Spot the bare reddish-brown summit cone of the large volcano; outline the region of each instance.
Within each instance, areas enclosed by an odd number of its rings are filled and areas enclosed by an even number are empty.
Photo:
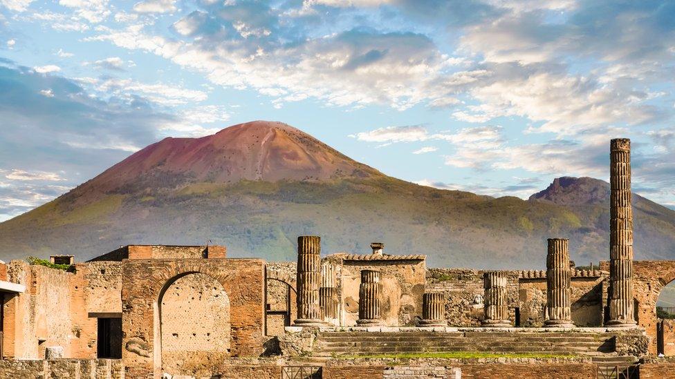
[[[165,138],[87,185],[110,192],[127,184],[137,186],[139,181],[145,188],[170,188],[192,182],[316,182],[380,175],[293,126],[254,121],[200,138]]]

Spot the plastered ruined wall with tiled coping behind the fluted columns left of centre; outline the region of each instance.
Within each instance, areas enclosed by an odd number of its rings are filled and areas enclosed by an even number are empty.
[[[412,325],[422,315],[425,286],[424,260],[344,260],[337,275],[342,302],[340,324],[351,326],[358,320],[359,284],[362,270],[380,271],[382,320],[389,326]]]

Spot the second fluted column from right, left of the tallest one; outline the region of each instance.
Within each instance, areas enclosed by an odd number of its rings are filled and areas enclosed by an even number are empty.
[[[569,240],[549,238],[546,254],[546,310],[545,327],[571,328],[572,270],[569,266]]]

